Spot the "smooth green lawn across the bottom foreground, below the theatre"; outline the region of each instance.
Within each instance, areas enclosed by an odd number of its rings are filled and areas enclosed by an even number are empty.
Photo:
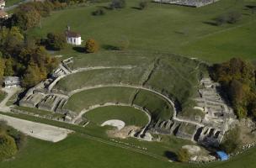
[[[168,151],[168,149],[167,149]],[[23,150],[14,160],[0,162],[6,168],[254,168],[256,149],[249,150],[232,160],[214,164],[191,165],[170,163],[156,160],[131,150],[125,150],[109,144],[86,139],[83,135],[72,134],[58,143],[50,143],[39,139],[28,139]]]

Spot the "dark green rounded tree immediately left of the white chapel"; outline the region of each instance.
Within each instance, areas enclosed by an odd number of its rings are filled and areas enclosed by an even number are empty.
[[[62,50],[67,45],[65,34],[49,33],[47,34],[47,47],[51,50]]]

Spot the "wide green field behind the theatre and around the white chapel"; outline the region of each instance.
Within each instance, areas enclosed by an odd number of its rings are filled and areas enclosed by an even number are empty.
[[[128,39],[131,50],[157,50],[211,62],[233,56],[255,58],[253,44],[256,39],[251,34],[254,34],[256,14],[245,7],[255,5],[255,1],[221,0],[203,8],[149,3],[145,10],[133,8],[138,3],[139,0],[127,1],[125,9],[107,10],[104,16],[98,17],[91,13],[109,3],[53,12],[51,17],[42,19],[42,29],[30,29],[27,33],[45,37],[49,32],[64,32],[69,25],[82,34],[83,40],[93,38],[99,41],[102,50],[106,49],[106,45],[117,46],[122,39]],[[216,16],[233,11],[242,13],[237,24],[207,24]],[[77,51],[68,47],[63,53],[74,54]]]

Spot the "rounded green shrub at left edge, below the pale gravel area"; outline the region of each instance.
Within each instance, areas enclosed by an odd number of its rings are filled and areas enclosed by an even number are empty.
[[[0,135],[0,160],[6,160],[11,158],[17,153],[17,146],[14,139],[7,135]]]

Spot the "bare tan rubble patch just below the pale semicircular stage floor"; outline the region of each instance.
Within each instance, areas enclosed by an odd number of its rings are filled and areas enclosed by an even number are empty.
[[[107,134],[111,138],[120,138],[120,139],[126,139],[130,136],[132,136],[136,131],[140,130],[140,127],[136,126],[126,126],[123,129],[114,129],[114,130],[107,130]]]

